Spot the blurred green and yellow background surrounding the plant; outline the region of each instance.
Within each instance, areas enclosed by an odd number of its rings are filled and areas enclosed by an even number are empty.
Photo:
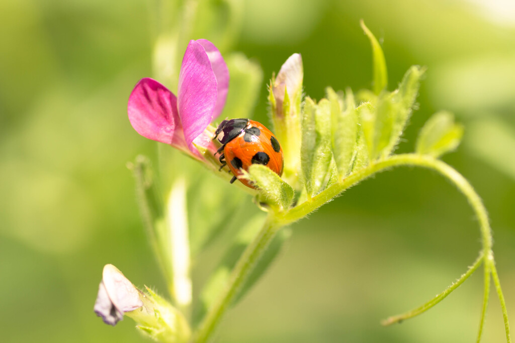
[[[134,84],[152,75],[151,6],[0,2],[3,342],[146,340],[130,319],[116,328],[103,324],[93,304],[106,263],[136,285],[165,291],[126,168],[137,154],[156,151],[133,131],[126,112]],[[263,68],[254,118],[265,123],[266,81],[291,53],[302,53],[305,93],[313,98],[328,85],[370,87],[371,51],[359,19],[383,41],[390,89],[410,65],[428,67],[420,110],[399,151],[413,151],[418,130],[437,110],[454,111],[464,123],[462,145],[443,159],[470,180],[489,211],[512,322],[514,7],[502,0],[248,0],[233,41],[234,50]],[[453,186],[426,170],[386,172],[295,224],[282,256],[217,336],[220,342],[474,341],[480,272],[418,318],[389,328],[379,321],[442,291],[478,250],[478,225]],[[503,339],[492,292],[484,341]]]

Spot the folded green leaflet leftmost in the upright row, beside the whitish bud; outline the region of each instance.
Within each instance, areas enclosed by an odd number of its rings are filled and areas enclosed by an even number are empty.
[[[302,116],[301,166],[307,194],[313,197],[324,189],[330,172],[331,153],[331,102],[318,103],[306,98]]]

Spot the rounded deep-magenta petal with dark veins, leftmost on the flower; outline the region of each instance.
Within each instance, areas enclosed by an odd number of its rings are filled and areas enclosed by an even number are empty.
[[[166,144],[184,146],[177,98],[168,88],[150,78],[141,79],[127,105],[129,121],[140,135]]]

